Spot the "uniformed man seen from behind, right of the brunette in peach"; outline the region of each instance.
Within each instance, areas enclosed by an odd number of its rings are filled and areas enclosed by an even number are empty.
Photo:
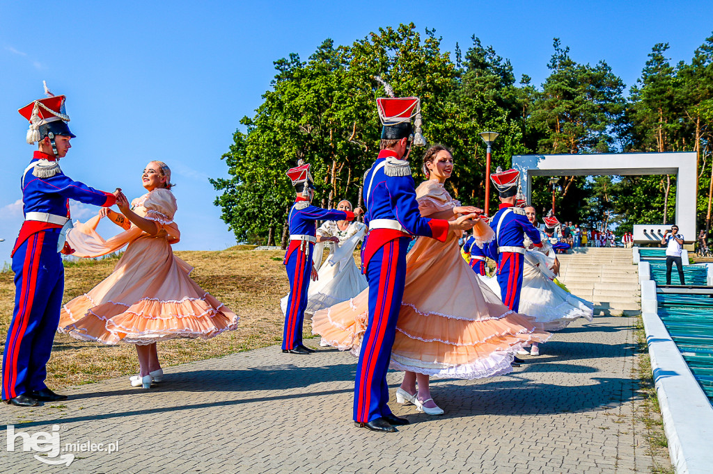
[[[501,288],[503,303],[517,312],[520,306],[520,288],[523,285],[523,262],[525,234],[535,247],[541,247],[540,231],[525,217],[524,209],[515,207],[520,172],[515,169],[491,175],[500,194],[500,209],[491,218],[490,226],[496,238],[488,245],[488,256],[498,262],[497,278]]]

